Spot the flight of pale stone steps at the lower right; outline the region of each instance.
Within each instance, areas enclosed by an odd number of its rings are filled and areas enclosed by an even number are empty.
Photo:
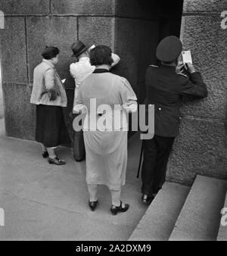
[[[191,189],[166,182],[129,241],[227,240],[227,226],[220,226],[226,190],[225,180],[200,175]]]

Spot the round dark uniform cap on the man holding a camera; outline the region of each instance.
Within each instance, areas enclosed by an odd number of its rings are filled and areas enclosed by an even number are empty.
[[[176,36],[167,36],[157,45],[156,56],[160,61],[175,61],[182,52],[182,42]]]

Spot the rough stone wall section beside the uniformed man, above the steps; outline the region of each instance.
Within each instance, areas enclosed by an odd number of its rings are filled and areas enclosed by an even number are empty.
[[[227,178],[226,30],[220,15],[222,0],[185,0],[181,38],[191,49],[209,95],[182,105],[180,134],[169,161],[168,180],[191,184],[197,173]]]

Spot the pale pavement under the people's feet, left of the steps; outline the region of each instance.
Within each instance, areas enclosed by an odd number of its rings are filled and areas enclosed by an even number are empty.
[[[39,145],[4,135],[0,119],[0,208],[5,226],[0,240],[126,240],[145,214],[141,181],[136,179],[140,142],[129,141],[129,162],[123,201],[129,211],[110,214],[110,192],[101,186],[98,208],[90,211],[85,162],[76,163],[70,148],[60,148],[67,164],[47,163]]]

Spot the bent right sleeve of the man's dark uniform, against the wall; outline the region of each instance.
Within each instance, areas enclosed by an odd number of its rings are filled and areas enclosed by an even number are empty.
[[[190,77],[185,77],[185,81],[182,86],[181,95],[194,96],[197,98],[207,97],[207,85],[201,76],[201,73],[194,72],[190,74]]]

